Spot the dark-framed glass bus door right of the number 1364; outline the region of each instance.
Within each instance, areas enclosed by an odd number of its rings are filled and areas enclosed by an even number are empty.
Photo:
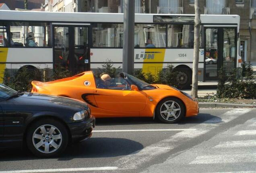
[[[237,34],[234,27],[211,27],[204,30],[204,80],[218,80],[223,67],[229,73],[236,65]]]

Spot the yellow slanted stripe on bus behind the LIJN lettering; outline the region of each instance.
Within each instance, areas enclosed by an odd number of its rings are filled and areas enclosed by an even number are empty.
[[[151,74],[157,74],[160,70],[163,69],[163,61],[165,58],[165,49],[145,49],[145,56],[142,65],[142,72]],[[150,63],[147,63],[150,62]],[[162,62],[162,63],[154,63]]]

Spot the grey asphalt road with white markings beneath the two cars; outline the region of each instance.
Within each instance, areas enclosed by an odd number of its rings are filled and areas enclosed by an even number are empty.
[[[58,158],[0,151],[0,173],[256,172],[256,109],[201,109],[171,125],[149,118],[97,119],[96,125],[91,139]]]

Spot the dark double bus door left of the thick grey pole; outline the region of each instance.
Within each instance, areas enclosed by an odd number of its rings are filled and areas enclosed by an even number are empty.
[[[85,25],[53,25],[54,68],[61,66],[73,74],[90,70],[88,30]]]

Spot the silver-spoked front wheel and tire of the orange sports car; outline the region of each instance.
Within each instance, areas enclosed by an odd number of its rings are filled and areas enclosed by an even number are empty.
[[[155,113],[163,123],[178,123],[185,117],[185,106],[180,99],[169,97],[159,102]]]

